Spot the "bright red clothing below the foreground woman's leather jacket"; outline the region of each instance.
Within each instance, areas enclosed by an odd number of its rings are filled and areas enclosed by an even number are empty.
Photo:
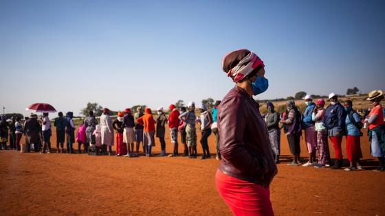
[[[270,189],[217,170],[215,184],[234,215],[274,215]]]

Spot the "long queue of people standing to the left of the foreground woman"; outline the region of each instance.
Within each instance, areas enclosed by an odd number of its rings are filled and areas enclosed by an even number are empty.
[[[217,106],[220,101],[216,101],[214,108],[208,110],[206,105],[199,108],[200,116],[195,115],[195,102],[190,101],[188,107],[182,107],[179,112],[174,104],[169,106],[170,115],[167,117],[163,107],[157,108],[157,117],[154,118],[150,108],[143,112],[142,107],[138,107],[135,115],[130,108],[124,112],[119,111],[118,117],[112,119],[110,110],[104,108],[100,116],[100,123],[90,111],[85,117],[83,123],[80,123],[76,132],[76,126],[73,120],[73,112],[67,112],[63,117],[63,112],[58,112],[58,117],[54,121],[56,128],[56,153],[68,154],[76,153],[74,143],[78,143],[78,153],[92,155],[112,155],[112,146],[115,146],[116,156],[136,157],[140,156],[140,145],[142,143],[142,152],[145,156],[153,156],[152,147],[155,146],[155,136],[159,139],[161,153],[159,156],[166,156],[166,124],[170,130],[170,141],[173,143],[173,152],[168,157],[179,156],[178,133],[181,135],[181,143],[184,152],[181,156],[197,158],[197,132],[195,126],[200,125],[201,147],[203,154],[201,159],[210,158],[208,147],[208,137],[213,132],[216,140],[217,160],[220,160],[219,154],[219,132],[217,125]],[[0,121],[1,148],[6,149],[8,143],[8,134],[10,134],[10,149],[21,152],[40,152],[41,154],[51,152],[52,128],[48,113],[38,119],[36,114],[31,114],[25,119],[24,125],[21,118],[6,121],[5,115]],[[15,130],[13,129],[15,128]],[[10,132],[8,133],[8,130]],[[15,131],[15,132],[14,132]],[[76,136],[75,136],[76,132]],[[12,134],[16,134],[13,139]],[[25,143],[21,142],[22,134],[25,135]],[[114,136],[115,134],[115,136]],[[116,142],[115,142],[116,140]],[[64,143],[67,144],[66,150]],[[135,149],[134,149],[134,143]]]

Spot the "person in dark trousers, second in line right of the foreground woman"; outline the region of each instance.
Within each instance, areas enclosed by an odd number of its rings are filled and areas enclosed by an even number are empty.
[[[298,166],[300,165],[300,136],[301,136],[301,114],[294,100],[286,102],[287,114],[285,119],[281,120],[284,125],[284,132],[289,143],[290,153],[293,155],[293,162],[287,165]]]

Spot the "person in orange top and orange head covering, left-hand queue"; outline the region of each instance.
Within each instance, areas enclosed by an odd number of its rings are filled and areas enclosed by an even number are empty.
[[[151,113],[150,108],[144,110],[144,115],[138,119],[136,122],[140,125],[143,125],[143,145],[146,146],[146,156],[151,156],[151,147],[155,146],[155,121],[153,114]]]

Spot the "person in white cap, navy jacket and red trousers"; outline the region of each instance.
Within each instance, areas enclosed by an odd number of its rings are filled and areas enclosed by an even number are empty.
[[[334,93],[329,95],[330,104],[325,110],[325,125],[329,139],[333,143],[336,160],[331,169],[342,168],[342,136],[344,135],[345,119],[347,117],[344,106],[338,102],[338,96]]]

